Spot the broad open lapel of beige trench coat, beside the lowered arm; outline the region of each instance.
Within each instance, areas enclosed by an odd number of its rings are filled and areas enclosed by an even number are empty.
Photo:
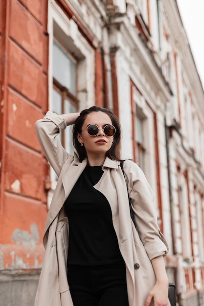
[[[105,166],[109,166],[112,169],[111,171],[105,171],[103,179],[100,180],[94,188],[100,191],[110,203],[113,227],[117,235],[119,248],[134,284],[134,258],[132,251],[133,237],[129,199],[124,175],[120,167],[118,169],[118,165],[119,162],[106,159],[104,169]],[[117,183],[115,184],[114,182]],[[118,197],[118,195],[120,195],[120,197]]]

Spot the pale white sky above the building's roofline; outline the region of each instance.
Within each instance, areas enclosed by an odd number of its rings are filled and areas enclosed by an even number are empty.
[[[204,88],[204,0],[177,0],[177,3]]]

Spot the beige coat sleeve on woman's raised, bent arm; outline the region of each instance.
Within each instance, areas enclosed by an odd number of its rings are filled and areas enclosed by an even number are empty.
[[[51,167],[58,176],[65,161],[71,156],[66,152],[57,138],[59,133],[65,130],[66,127],[65,120],[51,111],[47,111],[45,117],[35,123],[39,143]]]

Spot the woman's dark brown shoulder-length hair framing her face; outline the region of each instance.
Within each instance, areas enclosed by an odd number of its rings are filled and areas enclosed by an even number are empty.
[[[73,131],[72,131],[72,139],[73,139],[73,145],[74,148],[76,149],[79,159],[82,161],[84,158],[87,157],[87,153],[84,147],[81,146],[81,144],[78,141],[77,135],[78,133],[81,132],[83,123],[91,112],[94,111],[102,111],[105,112],[111,119],[113,126],[116,129],[116,132],[114,134],[114,142],[112,147],[109,149],[109,151],[106,152],[106,156],[108,156],[110,159],[113,160],[120,160],[117,156],[117,151],[120,147],[120,140],[121,140],[121,128],[120,128],[120,123],[118,121],[118,118],[115,116],[113,111],[110,109],[104,109],[98,106],[92,106],[89,109],[84,109],[81,111],[79,117],[76,119],[74,126],[73,126]]]

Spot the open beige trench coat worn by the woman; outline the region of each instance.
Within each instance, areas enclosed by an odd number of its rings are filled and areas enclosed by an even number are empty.
[[[39,142],[59,179],[45,223],[45,258],[35,306],[73,306],[67,280],[68,218],[63,204],[85,169],[87,160],[80,162],[76,154],[70,155],[63,149],[56,136],[64,129],[66,122],[49,111],[44,119],[36,122]],[[150,260],[166,255],[168,250],[157,224],[152,190],[140,168],[127,160],[124,172],[135,212],[136,231],[119,164],[106,158],[104,173],[94,188],[108,199],[111,206],[114,230],[126,263],[129,306],[143,306],[156,281]]]

